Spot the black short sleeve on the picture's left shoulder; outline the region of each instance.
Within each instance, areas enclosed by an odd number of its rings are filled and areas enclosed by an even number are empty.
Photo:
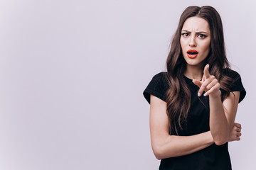
[[[150,94],[160,98],[162,101],[166,101],[166,91],[168,90],[168,86],[164,74],[166,73],[161,72],[159,74],[156,74],[149,82],[149,85],[146,86],[143,95],[146,98],[146,101],[149,102],[149,104]]]

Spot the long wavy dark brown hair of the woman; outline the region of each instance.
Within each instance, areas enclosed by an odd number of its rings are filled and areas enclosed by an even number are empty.
[[[203,65],[210,64],[210,74],[218,79],[220,88],[224,90],[221,93],[222,101],[230,94],[230,82],[233,81],[230,77],[222,74],[224,68],[230,70],[230,64],[225,55],[223,25],[219,13],[211,6],[188,6],[181,14],[166,60],[166,80],[169,84],[169,90],[166,93],[166,103],[170,134],[178,135],[178,129],[182,130],[184,128],[183,125],[186,125],[186,118],[191,107],[191,93],[183,77],[183,73],[186,70],[186,60],[184,60],[182,55],[180,38],[183,23],[187,18],[193,16],[208,21],[210,28],[210,52],[203,61]]]

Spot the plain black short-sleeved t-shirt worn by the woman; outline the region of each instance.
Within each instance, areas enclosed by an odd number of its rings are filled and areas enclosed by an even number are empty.
[[[228,77],[235,79],[235,82],[230,84],[230,90],[240,91],[239,102],[242,101],[242,99],[245,98],[246,91],[242,86],[240,75],[230,69],[225,69],[223,73]],[[169,86],[166,82],[164,74],[166,74],[166,72],[156,74],[144,90],[144,97],[149,103],[150,94],[160,98],[163,101],[166,101],[166,91],[169,89]],[[188,111],[186,128],[183,130],[179,129],[178,135],[189,136],[207,132],[210,130],[209,97],[205,97],[203,95],[198,97],[198,86],[193,84],[192,79],[188,79],[185,76],[184,79],[188,89],[191,91],[191,108]],[[220,89],[220,91],[223,91],[223,89]],[[205,149],[199,150],[198,152],[181,157],[161,159],[159,169],[229,170],[231,169],[231,163],[228,153],[228,142],[220,146],[213,144]]]

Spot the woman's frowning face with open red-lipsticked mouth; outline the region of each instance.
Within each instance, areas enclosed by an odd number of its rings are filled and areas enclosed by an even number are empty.
[[[210,28],[208,22],[197,16],[188,18],[181,29],[181,48],[186,63],[200,66],[210,52]]]

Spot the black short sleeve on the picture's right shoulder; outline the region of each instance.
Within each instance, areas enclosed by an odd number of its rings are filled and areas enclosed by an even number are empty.
[[[240,77],[240,74],[238,72],[235,72],[233,70],[230,70],[228,73],[228,77],[231,77],[234,82],[230,86],[231,91],[240,91],[240,97],[239,97],[239,103],[242,101],[242,99],[245,98],[246,91],[244,86],[242,86],[242,79]]]

